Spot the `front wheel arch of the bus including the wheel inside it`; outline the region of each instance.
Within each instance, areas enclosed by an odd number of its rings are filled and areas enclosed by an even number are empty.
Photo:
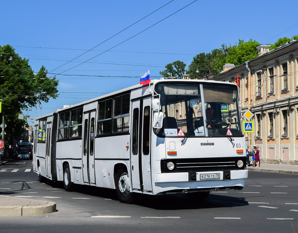
[[[124,164],[116,164],[114,167],[114,183],[117,195],[122,203],[130,203],[132,201],[132,193],[130,190],[130,177],[128,170]]]

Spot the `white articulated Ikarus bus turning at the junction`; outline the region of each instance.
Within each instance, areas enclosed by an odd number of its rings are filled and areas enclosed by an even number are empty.
[[[237,85],[151,80],[36,118],[33,167],[40,181],[132,193],[241,190],[247,178]]]

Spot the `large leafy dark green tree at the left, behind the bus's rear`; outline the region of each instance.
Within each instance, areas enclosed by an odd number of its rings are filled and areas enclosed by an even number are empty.
[[[56,77],[47,78],[44,66],[35,75],[28,64],[29,60],[21,58],[10,45],[0,46],[0,54],[0,99],[7,125],[5,139],[8,140],[10,136],[18,138],[28,127],[28,115],[18,119],[21,112],[58,96],[58,80]],[[15,61],[9,63],[7,59],[10,57]]]

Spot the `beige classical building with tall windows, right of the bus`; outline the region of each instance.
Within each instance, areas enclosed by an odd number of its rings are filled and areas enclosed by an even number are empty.
[[[257,49],[257,58],[226,64],[213,80],[235,82],[239,76],[241,112],[254,114],[246,141],[249,148],[260,146],[261,162],[298,165],[298,40]]]

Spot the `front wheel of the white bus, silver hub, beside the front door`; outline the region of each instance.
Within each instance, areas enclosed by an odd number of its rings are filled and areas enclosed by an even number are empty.
[[[132,200],[132,193],[130,192],[130,182],[126,171],[119,169],[116,176],[116,190],[119,200],[122,203],[130,203]]]

